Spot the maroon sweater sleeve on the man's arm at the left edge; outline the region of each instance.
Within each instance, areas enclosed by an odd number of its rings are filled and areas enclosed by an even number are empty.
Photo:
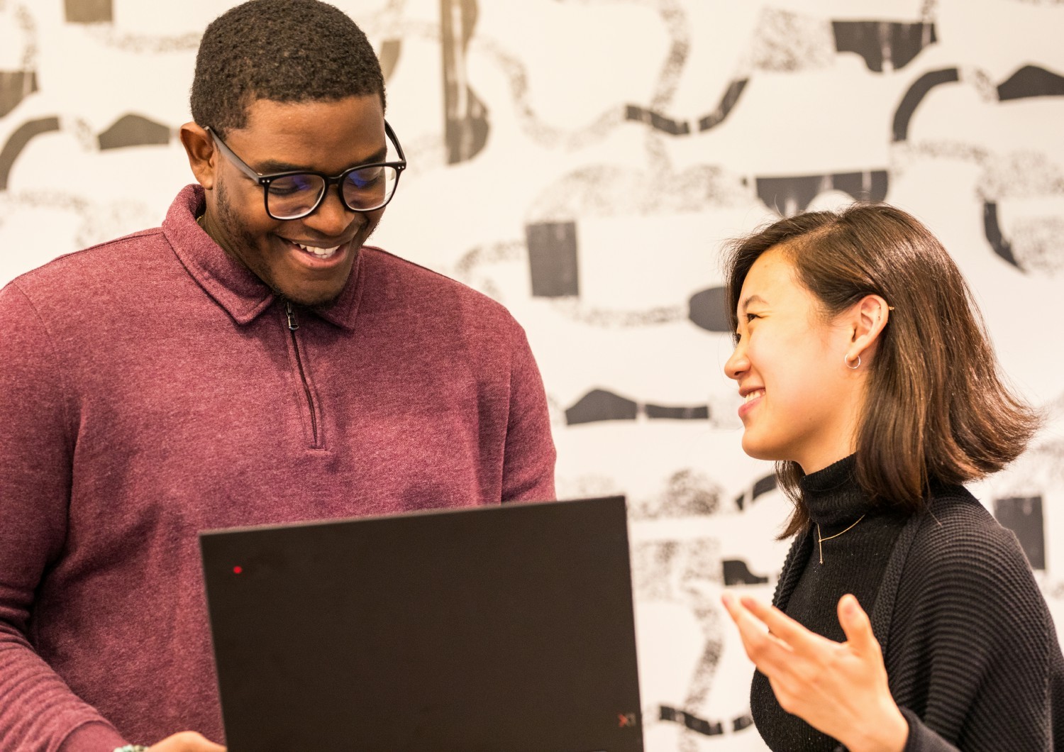
[[[110,751],[121,737],[33,649],[35,592],[66,540],[72,406],[46,327],[17,283],[0,290],[0,747]],[[74,745],[76,733],[85,743]]]

